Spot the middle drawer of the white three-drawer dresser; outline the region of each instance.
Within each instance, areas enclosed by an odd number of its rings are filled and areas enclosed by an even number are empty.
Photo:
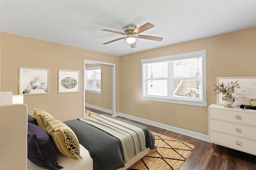
[[[256,127],[210,120],[210,130],[256,140]]]

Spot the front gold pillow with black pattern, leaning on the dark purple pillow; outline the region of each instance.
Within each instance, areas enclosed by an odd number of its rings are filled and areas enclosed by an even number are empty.
[[[65,123],[54,118],[46,118],[45,127],[52,137],[56,148],[69,158],[83,160],[80,155],[79,141],[76,134]]]

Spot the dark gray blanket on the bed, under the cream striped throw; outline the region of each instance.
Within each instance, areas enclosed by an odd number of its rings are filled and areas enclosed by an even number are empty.
[[[112,116],[108,117],[118,119]],[[156,149],[154,135],[146,127],[122,119],[118,120],[141,128],[145,135],[146,148]],[[80,144],[90,152],[94,170],[116,170],[124,167],[122,145],[116,137],[78,119],[64,123],[76,133]]]

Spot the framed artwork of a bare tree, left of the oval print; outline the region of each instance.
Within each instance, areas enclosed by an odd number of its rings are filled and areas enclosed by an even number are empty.
[[[19,94],[49,94],[49,69],[20,67],[19,79]]]

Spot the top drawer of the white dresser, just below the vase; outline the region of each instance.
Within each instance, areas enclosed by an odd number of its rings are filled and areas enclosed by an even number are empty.
[[[210,119],[242,123],[246,125],[256,125],[256,114],[242,111],[231,111],[226,109],[210,108]]]

